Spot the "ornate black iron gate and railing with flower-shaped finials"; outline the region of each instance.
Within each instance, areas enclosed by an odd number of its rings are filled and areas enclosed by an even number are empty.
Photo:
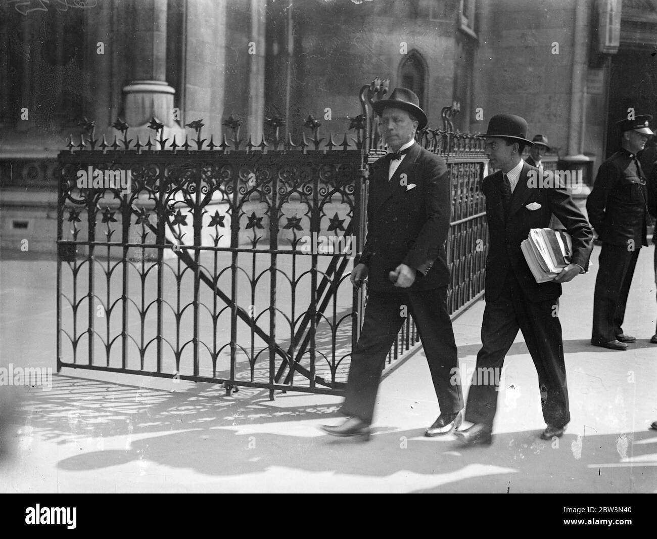
[[[233,139],[219,145],[201,138],[200,121],[182,145],[156,120],[160,138],[144,144],[118,121],[123,138],[108,145],[88,123],[87,137],[59,156],[58,370],[268,388],[270,398],[339,392],[365,300],[349,274],[365,237],[367,164],[382,153],[371,102],[385,91],[380,81],[363,87],[355,137],[340,144],[321,139],[310,117],[310,141],[277,132],[244,149],[235,118],[225,122]],[[449,129],[450,110],[445,129],[418,138],[452,172],[457,312],[483,285],[485,159],[479,139]],[[129,177],[129,189],[107,185],[112,177]],[[389,362],[418,340],[409,319]]]

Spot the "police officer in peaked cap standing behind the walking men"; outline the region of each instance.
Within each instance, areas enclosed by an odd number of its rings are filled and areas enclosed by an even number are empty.
[[[625,303],[642,245],[647,246],[648,212],[646,177],[637,153],[654,135],[643,114],[616,122],[621,149],[600,165],[593,191],[586,200],[589,221],[600,241],[599,269],[593,299],[591,344],[627,350],[635,337],[623,333]]]

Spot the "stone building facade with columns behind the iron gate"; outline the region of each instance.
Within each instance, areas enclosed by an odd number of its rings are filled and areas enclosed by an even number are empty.
[[[110,141],[230,114],[298,139],[312,114],[342,133],[374,77],[419,95],[430,126],[524,116],[589,181],[634,108],[657,117],[657,0],[1,0],[0,246],[53,252],[56,156],[96,122]],[[648,150],[650,152],[654,150]]]

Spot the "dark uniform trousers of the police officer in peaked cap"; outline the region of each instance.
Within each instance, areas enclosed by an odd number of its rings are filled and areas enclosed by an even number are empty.
[[[627,294],[640,250],[641,246],[628,251],[623,245],[602,243],[593,296],[593,344],[615,340],[623,333]]]

